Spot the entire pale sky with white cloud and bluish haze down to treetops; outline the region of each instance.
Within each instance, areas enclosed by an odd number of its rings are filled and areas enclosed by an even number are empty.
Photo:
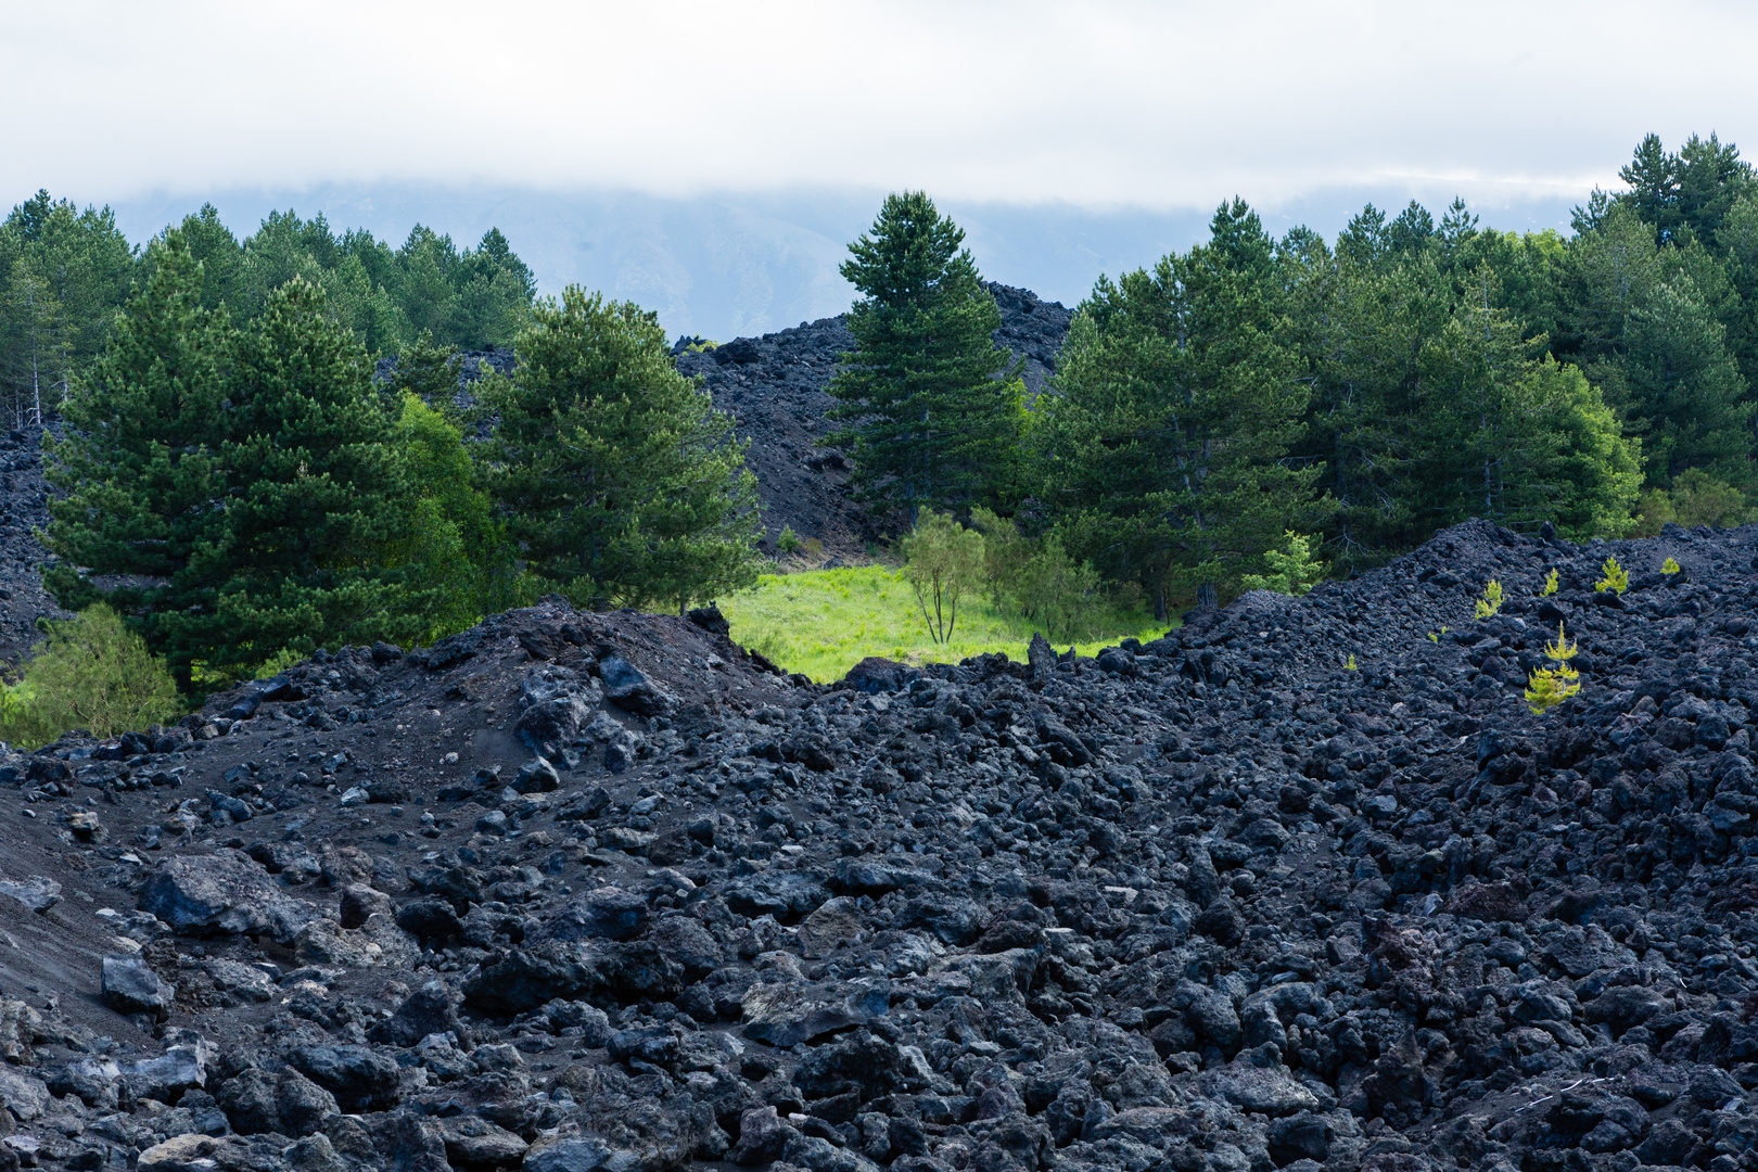
[[[109,204],[134,239],[206,200],[243,232],[288,206],[397,241],[498,223],[545,290],[710,336],[846,307],[835,264],[891,190],[933,195],[988,276],[1072,302],[1231,195],[1326,235],[1452,195],[1566,228],[1644,134],[1747,142],[1758,119],[1758,5],[1688,0],[0,0],[0,21],[7,206]],[[1658,58],[1667,30],[1688,51]]]

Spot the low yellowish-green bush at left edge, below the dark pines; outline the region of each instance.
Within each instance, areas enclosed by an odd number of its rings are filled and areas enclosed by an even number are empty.
[[[114,736],[178,713],[178,685],[165,662],[121,617],[90,606],[74,619],[46,620],[21,678],[0,682],[0,736],[37,749],[69,729]]]

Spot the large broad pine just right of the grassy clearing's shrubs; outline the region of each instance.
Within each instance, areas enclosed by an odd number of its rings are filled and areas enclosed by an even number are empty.
[[[1139,580],[1157,617],[1213,603],[1310,508],[1283,457],[1308,390],[1282,343],[1269,237],[1243,202],[1153,272],[1101,279],[1035,425],[1042,499],[1078,559]]]

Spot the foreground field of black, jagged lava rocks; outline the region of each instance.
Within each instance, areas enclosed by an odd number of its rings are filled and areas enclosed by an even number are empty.
[[[0,1165],[1758,1167],[1754,599],[1471,524],[1095,661],[318,655],[0,764]]]

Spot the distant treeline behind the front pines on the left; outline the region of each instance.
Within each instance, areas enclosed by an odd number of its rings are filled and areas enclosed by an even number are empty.
[[[183,248],[202,264],[202,306],[257,320],[294,278],[323,292],[323,313],[373,353],[422,336],[462,350],[508,346],[536,283],[498,228],[475,250],[417,225],[401,248],[334,232],[323,216],[271,213],[243,241],[214,207],[186,216]],[[47,192],[0,221],[0,411],[12,427],[53,416],[102,353],[116,313],[151,272],[111,209],[79,211]]]

